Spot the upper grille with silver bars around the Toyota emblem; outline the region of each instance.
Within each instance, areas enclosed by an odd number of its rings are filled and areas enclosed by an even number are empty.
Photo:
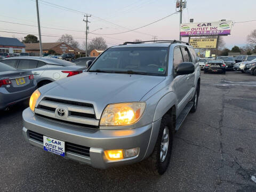
[[[65,115],[60,116],[57,113],[58,109],[63,109]],[[94,107],[91,103],[45,97],[35,108],[35,114],[75,126],[99,127],[99,119],[96,119]]]

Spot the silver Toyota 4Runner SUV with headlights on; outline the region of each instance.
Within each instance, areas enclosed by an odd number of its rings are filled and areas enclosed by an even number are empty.
[[[87,73],[36,90],[22,131],[31,145],[93,167],[144,160],[163,174],[173,134],[196,111],[199,89],[188,43],[126,42],[103,52]]]

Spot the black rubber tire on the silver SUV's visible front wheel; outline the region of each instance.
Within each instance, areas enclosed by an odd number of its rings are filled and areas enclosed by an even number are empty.
[[[163,161],[161,162],[161,148],[162,148],[162,139],[165,128],[169,130],[169,143],[167,147],[167,153]],[[172,141],[173,141],[173,134],[174,134],[174,127],[171,122],[171,116],[166,114],[162,117],[157,141],[153,153],[149,156],[149,158],[143,161],[143,166],[146,166],[147,171],[150,171],[154,175],[162,175],[167,170],[171,154],[172,154]]]

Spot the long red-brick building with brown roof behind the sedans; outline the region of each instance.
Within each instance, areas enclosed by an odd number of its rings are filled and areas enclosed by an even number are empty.
[[[39,43],[25,43],[26,52],[30,55],[38,56],[40,53]],[[73,48],[66,43],[56,42],[56,43],[42,43],[43,53],[48,53],[49,50],[54,50],[58,54],[62,53],[74,53],[78,54],[79,49]]]

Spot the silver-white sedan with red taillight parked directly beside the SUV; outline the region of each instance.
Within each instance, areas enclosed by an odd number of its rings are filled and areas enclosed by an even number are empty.
[[[6,58],[1,62],[17,69],[29,69],[33,72],[37,86],[82,73],[85,68],[74,63],[49,57]]]

